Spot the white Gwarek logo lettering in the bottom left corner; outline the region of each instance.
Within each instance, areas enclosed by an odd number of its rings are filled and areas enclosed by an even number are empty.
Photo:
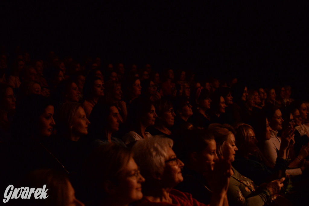
[[[21,197],[21,199],[30,199],[32,193],[34,193],[35,199],[42,199],[42,198],[46,199],[48,198],[49,195],[46,194],[46,191],[48,191],[48,189],[45,190],[45,188],[46,188],[46,185],[43,186],[43,189],[42,188],[29,188],[29,187],[21,187],[21,188],[14,189],[13,185],[9,185],[6,187],[6,190],[4,192],[4,198],[6,199],[3,199],[3,202],[7,203],[10,200],[10,198],[18,199],[19,197]]]

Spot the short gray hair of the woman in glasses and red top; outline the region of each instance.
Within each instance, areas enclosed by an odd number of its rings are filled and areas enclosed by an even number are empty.
[[[163,174],[167,150],[172,146],[173,140],[161,136],[140,140],[134,144],[132,148],[133,158],[136,164],[140,166],[141,174],[146,181],[157,174]]]

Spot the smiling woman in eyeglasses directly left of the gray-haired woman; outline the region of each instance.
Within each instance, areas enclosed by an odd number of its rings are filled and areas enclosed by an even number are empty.
[[[121,145],[101,145],[89,156],[81,195],[90,205],[125,206],[143,197],[142,183],[131,151]],[[90,189],[89,189],[90,188]]]

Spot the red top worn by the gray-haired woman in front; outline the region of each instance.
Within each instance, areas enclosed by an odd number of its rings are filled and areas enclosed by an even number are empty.
[[[150,202],[147,197],[143,197],[142,200],[135,202],[135,206],[205,206],[205,204],[198,202],[190,193],[181,192],[179,190],[171,189],[170,198],[172,203],[167,202]]]

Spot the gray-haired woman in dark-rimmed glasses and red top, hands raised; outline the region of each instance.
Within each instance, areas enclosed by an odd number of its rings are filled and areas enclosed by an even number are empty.
[[[142,184],[144,197],[135,205],[205,205],[189,193],[173,189],[183,181],[181,162],[172,150],[173,141],[165,137],[155,137],[137,141],[133,146],[134,160],[145,183]],[[231,165],[221,161],[215,166],[216,188],[210,205],[222,205],[226,195]]]

